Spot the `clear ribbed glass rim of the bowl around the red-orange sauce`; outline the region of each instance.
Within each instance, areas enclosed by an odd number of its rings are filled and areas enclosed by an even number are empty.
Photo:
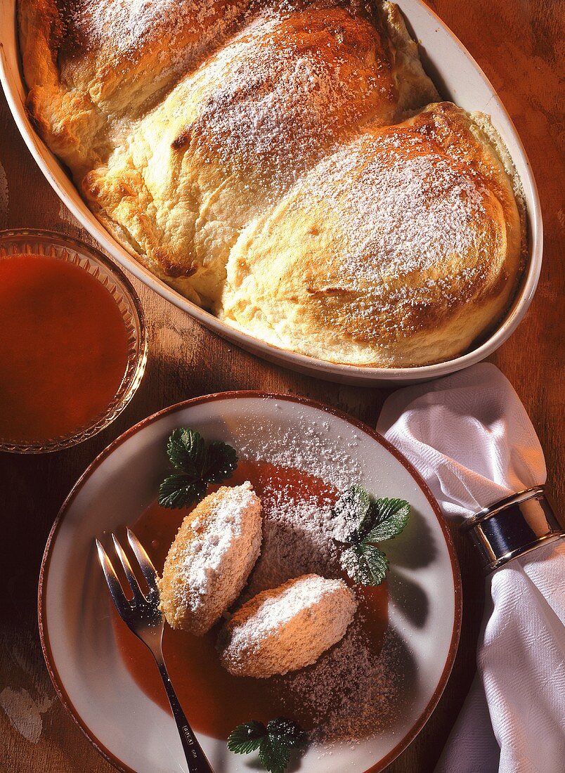
[[[134,396],[147,362],[147,330],[143,308],[131,282],[123,271],[93,247],[62,234],[44,230],[16,229],[0,231],[0,261],[19,254],[45,255],[74,264],[100,281],[116,301],[128,331],[128,362],[114,399],[87,425],[74,434],[47,441],[17,443],[2,438],[0,450],[19,454],[60,451],[82,443],[104,430],[118,417]]]

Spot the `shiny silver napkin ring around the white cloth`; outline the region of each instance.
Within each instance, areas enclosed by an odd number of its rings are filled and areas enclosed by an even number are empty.
[[[547,501],[543,485],[526,489],[486,507],[461,525],[481,553],[489,574],[512,558],[560,540],[565,530]]]

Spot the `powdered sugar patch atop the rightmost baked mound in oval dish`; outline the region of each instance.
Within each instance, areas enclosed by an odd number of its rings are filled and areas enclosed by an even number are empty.
[[[315,179],[296,206],[336,210],[342,279],[354,288],[380,281],[388,295],[386,281],[414,272],[437,269],[441,278],[446,263],[474,247],[473,223],[485,217],[484,189],[473,170],[438,155],[416,133],[360,137],[326,158]]]

